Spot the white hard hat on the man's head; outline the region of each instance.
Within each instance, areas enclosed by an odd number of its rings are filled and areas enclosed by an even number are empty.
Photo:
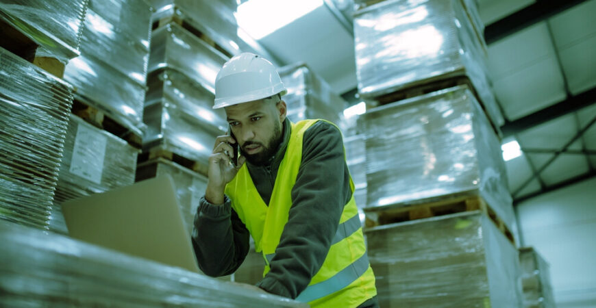
[[[287,92],[271,62],[254,53],[240,53],[225,62],[217,73],[213,109]]]

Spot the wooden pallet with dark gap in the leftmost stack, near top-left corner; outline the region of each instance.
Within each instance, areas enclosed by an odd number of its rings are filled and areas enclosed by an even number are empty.
[[[53,57],[38,55],[39,45],[2,19],[0,19],[0,37],[2,38],[0,47],[3,49],[22,57],[55,77],[64,77],[66,64]]]

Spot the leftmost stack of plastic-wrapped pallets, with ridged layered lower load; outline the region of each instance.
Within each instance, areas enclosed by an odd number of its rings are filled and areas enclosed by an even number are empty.
[[[87,1],[0,1],[0,218],[49,228]]]

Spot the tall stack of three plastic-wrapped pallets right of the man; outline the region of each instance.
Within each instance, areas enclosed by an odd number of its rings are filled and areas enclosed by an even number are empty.
[[[356,4],[358,92],[369,106],[367,238],[381,302],[520,307],[503,118],[475,1]]]

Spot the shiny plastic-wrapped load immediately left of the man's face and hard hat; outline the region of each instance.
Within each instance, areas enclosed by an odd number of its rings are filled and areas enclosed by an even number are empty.
[[[213,94],[167,69],[151,77],[144,120],[145,149],[164,149],[207,166],[217,136],[225,134],[223,110],[213,110]]]

